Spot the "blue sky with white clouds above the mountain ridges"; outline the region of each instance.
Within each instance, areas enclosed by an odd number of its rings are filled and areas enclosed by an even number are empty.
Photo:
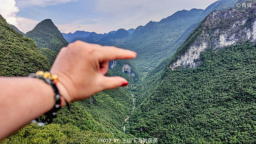
[[[23,32],[52,19],[61,32],[136,29],[179,10],[205,9],[217,0],[0,0],[0,14]]]

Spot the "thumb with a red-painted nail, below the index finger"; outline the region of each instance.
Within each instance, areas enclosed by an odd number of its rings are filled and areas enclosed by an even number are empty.
[[[101,84],[102,90],[113,89],[113,88],[117,88],[119,86],[128,86],[127,80],[122,77],[102,76],[100,79],[100,84]]]

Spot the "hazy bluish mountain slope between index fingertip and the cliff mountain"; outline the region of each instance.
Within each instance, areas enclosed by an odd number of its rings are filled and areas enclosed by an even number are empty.
[[[144,68],[153,68],[175,52],[170,46],[189,28],[201,14],[202,9],[178,11],[160,22],[149,22],[136,28],[123,48],[138,53],[134,62]]]

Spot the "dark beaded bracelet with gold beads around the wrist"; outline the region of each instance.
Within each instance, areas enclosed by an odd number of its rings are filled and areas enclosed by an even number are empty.
[[[29,77],[41,79],[45,83],[47,83],[47,84],[49,84],[53,87],[53,90],[55,92],[54,99],[56,101],[56,104],[54,105],[52,110],[50,110],[49,112],[44,114],[46,116],[44,119],[43,118],[36,118],[36,119],[32,120],[32,123],[37,122],[38,126],[43,126],[45,124],[49,124],[53,121],[53,118],[57,117],[57,111],[59,111],[61,109],[61,96],[62,95],[60,94],[60,92],[59,92],[59,90],[56,86],[56,83],[58,81],[57,80],[58,76],[57,75],[52,75],[49,72],[38,71],[36,73],[30,74]],[[64,100],[65,100],[65,102],[68,106],[68,102],[66,101],[65,98],[64,98]]]

